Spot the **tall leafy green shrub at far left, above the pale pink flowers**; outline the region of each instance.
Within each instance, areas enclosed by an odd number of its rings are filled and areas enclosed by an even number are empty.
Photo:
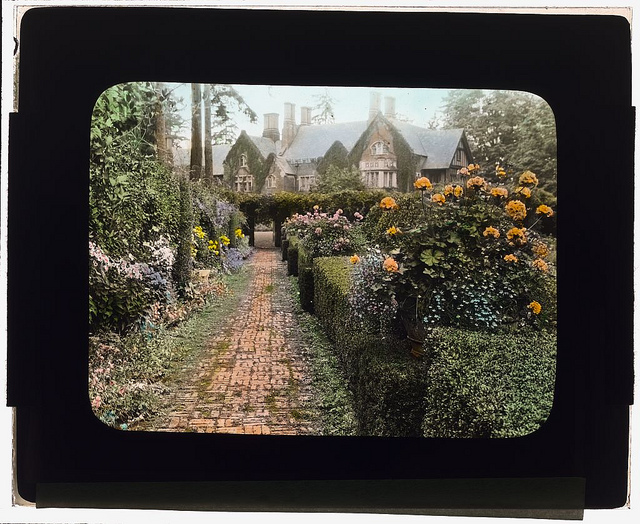
[[[177,232],[178,185],[157,160],[150,83],[120,84],[98,98],[91,120],[89,235],[112,256],[144,256],[145,242]]]

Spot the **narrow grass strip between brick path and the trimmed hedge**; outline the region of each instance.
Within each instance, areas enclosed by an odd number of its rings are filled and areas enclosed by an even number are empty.
[[[312,387],[316,393],[316,410],[322,421],[322,435],[355,436],[353,393],[340,371],[333,346],[313,315],[302,309],[297,278],[288,277],[285,287],[293,298],[293,312],[300,326],[300,335],[311,355]]]

